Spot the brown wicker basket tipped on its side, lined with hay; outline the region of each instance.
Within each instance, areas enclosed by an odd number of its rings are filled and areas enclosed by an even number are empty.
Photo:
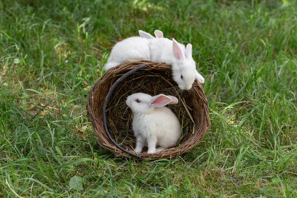
[[[137,92],[179,99],[179,104],[168,106],[183,128],[177,146],[153,154],[134,152],[133,114],[125,100]],[[148,60],[126,62],[106,71],[90,91],[87,112],[101,147],[116,155],[145,160],[172,158],[190,151],[210,127],[203,88],[195,81],[191,90],[181,91],[172,80],[170,65]]]

